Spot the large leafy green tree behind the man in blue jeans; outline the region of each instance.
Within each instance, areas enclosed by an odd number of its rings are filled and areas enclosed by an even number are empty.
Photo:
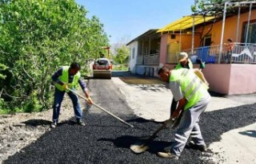
[[[85,65],[103,45],[106,33],[98,18],[74,0],[0,0],[0,80],[10,108],[37,111],[50,107],[51,74],[60,65]]]

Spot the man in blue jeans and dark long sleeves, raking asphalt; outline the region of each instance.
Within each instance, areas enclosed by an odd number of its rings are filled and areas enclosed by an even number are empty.
[[[78,84],[80,84],[82,91],[86,95],[87,102],[90,104],[93,103],[93,101],[90,99],[90,94],[86,88],[86,84],[81,80],[81,73],[79,70],[80,65],[74,62],[70,64],[70,66],[62,66],[52,76],[52,80],[54,81],[54,85],[56,87],[54,92],[53,123],[51,124],[52,128],[56,127],[58,124],[58,115],[65,93],[67,93],[72,100],[74,115],[77,123],[82,126],[85,125],[85,123],[82,121],[82,110],[78,101],[78,96],[75,95],[74,92],[67,90],[70,88],[75,91],[75,89],[78,88]]]

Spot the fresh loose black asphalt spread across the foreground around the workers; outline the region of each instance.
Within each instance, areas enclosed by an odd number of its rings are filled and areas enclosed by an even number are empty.
[[[256,103],[203,113],[200,126],[206,144],[219,141],[226,131],[255,123],[255,111]],[[162,124],[134,115],[119,116],[134,128],[110,115],[91,113],[85,115],[85,127],[72,121],[62,123],[3,163],[213,163],[207,159],[213,154],[210,150],[185,149],[178,161],[159,158],[156,153],[174,139],[175,131],[170,129],[159,132],[149,150],[134,154],[130,145],[147,139]]]

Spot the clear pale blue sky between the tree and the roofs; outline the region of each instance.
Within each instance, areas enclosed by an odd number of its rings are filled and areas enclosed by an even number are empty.
[[[161,29],[192,14],[194,0],[75,0],[96,16],[110,36],[110,45],[127,44],[149,29]]]

